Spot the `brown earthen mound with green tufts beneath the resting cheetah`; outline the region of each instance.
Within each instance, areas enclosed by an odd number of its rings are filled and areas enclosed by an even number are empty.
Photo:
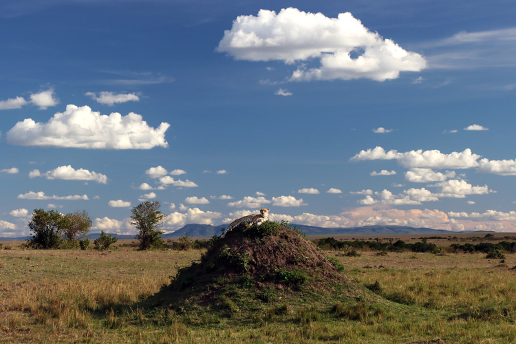
[[[180,269],[144,306],[231,316],[250,314],[262,303],[356,294],[356,283],[341,270],[296,228],[277,222],[242,225],[214,237],[200,263]]]

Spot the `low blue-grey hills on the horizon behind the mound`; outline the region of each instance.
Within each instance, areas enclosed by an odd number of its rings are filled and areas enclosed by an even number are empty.
[[[445,229],[415,228],[407,226],[364,226],[351,228],[325,228],[306,226],[304,224],[292,224],[303,230],[306,235],[387,235],[387,234],[433,234],[453,233]],[[187,224],[173,233],[163,235],[164,239],[178,238],[188,234],[190,237],[213,237],[221,234],[222,228],[228,228],[228,224],[211,226],[209,224]]]

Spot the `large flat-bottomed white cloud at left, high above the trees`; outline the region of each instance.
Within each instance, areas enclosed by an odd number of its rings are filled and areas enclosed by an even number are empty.
[[[31,118],[18,122],[7,133],[10,144],[41,147],[73,147],[85,149],[151,149],[168,147],[165,131],[170,125],[162,122],[154,129],[133,112],[122,116],[116,112],[100,115],[90,107],[67,105],[47,123]]]

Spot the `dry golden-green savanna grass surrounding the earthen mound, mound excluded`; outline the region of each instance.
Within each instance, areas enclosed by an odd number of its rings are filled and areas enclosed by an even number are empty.
[[[516,341],[516,255],[508,251],[504,259],[486,259],[446,244],[438,252],[325,248],[352,288],[309,288],[303,286],[311,283],[308,276],[293,289],[264,286],[246,308],[250,291],[241,290],[252,289],[243,283],[224,294],[239,303],[226,297],[224,312],[215,314],[209,307],[191,312],[148,302],[166,294],[169,277],[200,263],[206,250],[24,250],[19,244],[0,250],[0,343]]]

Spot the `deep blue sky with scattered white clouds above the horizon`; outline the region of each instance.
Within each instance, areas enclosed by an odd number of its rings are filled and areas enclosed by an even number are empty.
[[[2,1],[0,236],[270,208],[516,230],[513,1]]]

